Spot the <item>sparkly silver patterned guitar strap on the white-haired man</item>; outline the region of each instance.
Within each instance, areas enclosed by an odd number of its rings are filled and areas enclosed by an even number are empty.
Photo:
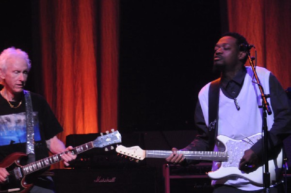
[[[30,91],[23,90],[23,93],[26,109],[26,154],[28,156],[28,163],[32,163],[35,162],[32,98]]]

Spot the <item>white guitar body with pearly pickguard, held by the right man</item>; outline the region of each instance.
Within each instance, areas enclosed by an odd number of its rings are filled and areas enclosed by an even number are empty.
[[[261,134],[255,134],[242,140],[234,140],[225,135],[217,136],[217,139],[221,141],[228,153],[227,162],[222,162],[219,169],[213,172],[209,172],[208,176],[211,179],[220,179],[227,176],[239,176],[241,178],[248,179],[259,186],[263,185],[263,166],[260,166],[253,172],[245,173],[239,170],[239,163],[242,159],[244,151],[251,148],[261,138]],[[281,175],[281,167],[283,165],[283,152],[279,153],[277,159],[269,161],[270,182],[275,182]]]

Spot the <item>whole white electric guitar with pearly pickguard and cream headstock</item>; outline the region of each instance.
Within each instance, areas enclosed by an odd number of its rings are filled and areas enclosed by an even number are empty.
[[[178,153],[183,153],[186,159],[189,160],[220,161],[220,168],[208,173],[208,176],[211,179],[239,176],[248,179],[259,186],[263,186],[263,166],[260,166],[258,169],[250,173],[245,173],[239,170],[239,163],[244,151],[252,147],[260,138],[261,134],[254,134],[242,140],[234,140],[225,135],[219,135],[217,136],[217,139],[224,144],[226,147],[225,151],[178,151]],[[136,160],[143,160],[145,158],[167,158],[172,153],[172,151],[164,150],[143,150],[138,146],[130,148],[118,146],[115,150],[120,154],[127,155]],[[275,160],[269,161],[271,182],[276,180],[277,175],[280,175],[282,164],[283,153],[281,150]]]

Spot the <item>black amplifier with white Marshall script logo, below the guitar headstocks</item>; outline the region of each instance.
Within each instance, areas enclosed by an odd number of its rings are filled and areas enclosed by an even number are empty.
[[[54,169],[57,193],[156,193],[156,171],[149,167]]]

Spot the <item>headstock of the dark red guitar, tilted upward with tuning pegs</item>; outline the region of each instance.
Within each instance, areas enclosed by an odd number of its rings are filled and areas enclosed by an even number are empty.
[[[104,148],[112,144],[121,143],[121,134],[118,131],[111,130],[112,133],[106,132],[105,135],[97,137],[93,141],[94,148]]]

